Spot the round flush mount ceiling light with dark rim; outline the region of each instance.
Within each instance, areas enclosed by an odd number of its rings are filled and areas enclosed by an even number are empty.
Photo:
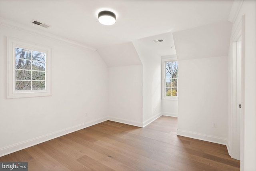
[[[116,23],[116,14],[111,11],[101,11],[98,14],[98,21],[107,26],[113,25]]]

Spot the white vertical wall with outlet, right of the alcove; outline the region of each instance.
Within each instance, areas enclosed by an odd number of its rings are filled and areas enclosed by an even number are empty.
[[[178,135],[226,143],[227,59],[224,56],[178,61]],[[212,123],[217,127],[213,128]]]

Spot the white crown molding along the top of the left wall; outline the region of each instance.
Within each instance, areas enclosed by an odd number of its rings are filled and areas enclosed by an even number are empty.
[[[55,34],[46,33],[46,32],[43,32],[41,30],[34,30],[32,28],[29,28],[28,26],[24,26],[23,24],[20,24],[18,22],[14,22],[14,21],[11,21],[11,20],[7,20],[7,19],[2,18],[2,17],[0,17],[0,25],[7,26],[7,27],[10,27],[10,28],[14,28],[16,30],[20,30],[22,32],[27,32],[27,33],[30,33],[30,34],[34,34],[34,35],[37,35],[37,36],[44,37],[44,38],[64,42],[64,43],[67,43],[67,44],[70,44],[70,45],[73,45],[73,46],[77,46],[79,48],[83,48],[83,49],[86,49],[86,50],[96,51],[96,48],[92,48],[92,47],[87,46],[85,44],[82,44],[82,43],[79,43],[79,42],[76,42],[76,41],[73,41],[73,40],[70,40],[70,39],[67,39],[67,38],[63,38],[63,37],[57,36]]]

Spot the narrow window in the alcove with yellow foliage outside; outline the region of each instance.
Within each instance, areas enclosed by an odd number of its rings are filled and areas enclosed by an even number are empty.
[[[176,56],[162,59],[162,99],[177,99],[178,61]]]

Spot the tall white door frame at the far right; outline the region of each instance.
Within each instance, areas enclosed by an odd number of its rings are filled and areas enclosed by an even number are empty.
[[[231,37],[230,156],[240,160],[244,136],[244,17]],[[239,107],[241,105],[241,108]]]

